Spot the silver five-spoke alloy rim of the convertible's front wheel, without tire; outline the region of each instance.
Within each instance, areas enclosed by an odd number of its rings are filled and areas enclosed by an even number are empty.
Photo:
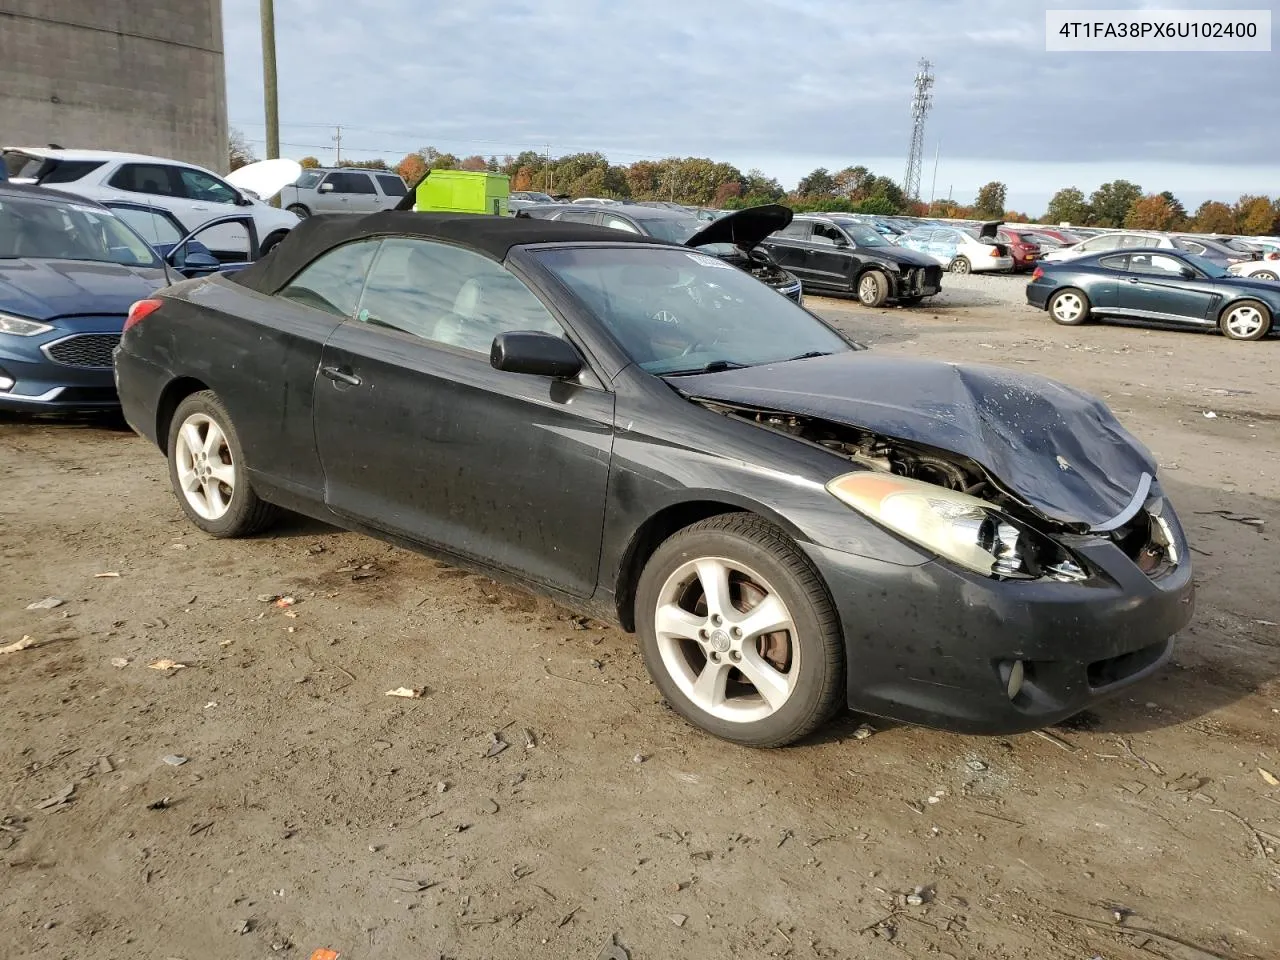
[[[778,593],[744,563],[703,557],[677,567],[658,594],[654,627],[663,668],[713,717],[760,721],[795,690],[795,621]]]

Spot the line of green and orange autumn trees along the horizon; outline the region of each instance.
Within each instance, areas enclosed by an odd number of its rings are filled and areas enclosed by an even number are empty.
[[[232,169],[253,159],[244,137],[232,131]],[[301,163],[311,168],[321,165],[314,156],[302,157]],[[909,200],[896,180],[877,175],[865,166],[846,166],[836,172],[818,168],[803,177],[794,191],[786,191],[762,170],[744,173],[733,164],[696,156],[611,164],[600,152],[553,157],[526,150],[515,156],[474,154],[460,157],[429,146],[407,154],[394,164],[385,160],[344,160],[339,165],[394,170],[408,184],[417,183],[428,170],[488,170],[509,177],[513,191],[613,200],[668,200],[722,210],[781,201],[797,211],[906,214],[1197,233],[1280,233],[1280,198],[1244,195],[1235,204],[1210,200],[1189,214],[1171,192],[1148,193],[1129,180],[1103,183],[1089,196],[1076,187],[1064,187],[1053,195],[1042,215],[1033,216],[1006,209],[1009,188],[998,180],[983,184],[970,205],[951,200],[923,204]]]

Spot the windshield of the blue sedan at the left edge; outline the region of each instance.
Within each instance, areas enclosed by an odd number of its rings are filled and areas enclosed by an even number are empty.
[[[106,210],[36,197],[0,197],[0,259],[92,260],[160,266],[156,252]]]

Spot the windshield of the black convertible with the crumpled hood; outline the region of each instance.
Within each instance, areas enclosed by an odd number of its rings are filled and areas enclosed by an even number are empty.
[[[538,259],[650,374],[692,374],[851,349],[831,328],[722,260],[580,247]]]

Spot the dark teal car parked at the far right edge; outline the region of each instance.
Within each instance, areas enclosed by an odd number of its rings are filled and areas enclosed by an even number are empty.
[[[1194,253],[1134,248],[1041,264],[1027,302],[1066,326],[1114,316],[1261,340],[1280,314],[1280,284],[1235,276]]]

